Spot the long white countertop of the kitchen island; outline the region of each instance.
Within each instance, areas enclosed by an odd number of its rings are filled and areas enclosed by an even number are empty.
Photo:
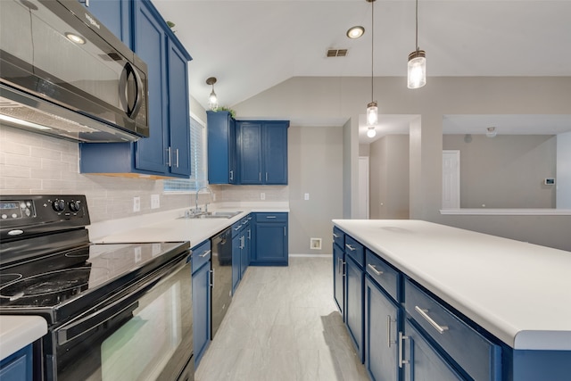
[[[510,347],[571,351],[571,252],[419,220],[333,222]]]

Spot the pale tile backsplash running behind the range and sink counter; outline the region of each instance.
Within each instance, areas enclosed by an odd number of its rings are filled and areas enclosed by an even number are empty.
[[[216,202],[288,201],[287,186],[211,186]],[[55,137],[0,126],[0,193],[2,195],[86,195],[92,222],[134,217],[153,211],[194,206],[194,194],[165,194],[162,180],[119,178],[79,173],[79,145]],[[151,196],[161,207],[151,209]],[[133,197],[141,211],[133,211]],[[199,203],[210,202],[201,195]]]

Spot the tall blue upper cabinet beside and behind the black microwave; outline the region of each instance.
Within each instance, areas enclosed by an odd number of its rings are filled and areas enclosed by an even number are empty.
[[[116,9],[118,2],[102,3],[102,8],[109,4],[109,9]],[[90,0],[90,4],[93,5],[94,0]],[[133,50],[148,69],[150,136],[135,143],[81,143],[80,170],[81,173],[188,178],[187,62],[192,58],[150,1],[138,0],[132,4]]]

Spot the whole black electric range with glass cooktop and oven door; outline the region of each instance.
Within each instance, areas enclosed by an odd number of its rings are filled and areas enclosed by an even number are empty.
[[[92,244],[89,224],[84,195],[0,195],[0,315],[47,321],[34,379],[194,379],[190,243]]]

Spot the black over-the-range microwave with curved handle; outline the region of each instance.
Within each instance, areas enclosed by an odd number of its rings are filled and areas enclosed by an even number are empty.
[[[124,142],[147,114],[145,62],[77,0],[0,1],[0,124]]]

